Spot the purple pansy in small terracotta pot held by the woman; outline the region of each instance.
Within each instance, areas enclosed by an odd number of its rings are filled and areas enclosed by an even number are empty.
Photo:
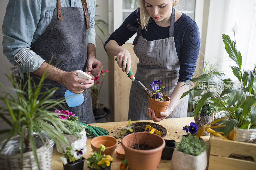
[[[165,89],[164,86],[159,88],[159,85],[161,85],[162,82],[160,80],[153,81],[150,86],[152,89],[155,91],[155,93],[152,93],[151,96],[148,96],[148,101],[149,101],[149,108],[153,109],[156,117],[161,117],[160,113],[164,112],[165,108],[167,105],[170,103],[170,98],[168,96],[163,95],[160,90],[163,88]]]

